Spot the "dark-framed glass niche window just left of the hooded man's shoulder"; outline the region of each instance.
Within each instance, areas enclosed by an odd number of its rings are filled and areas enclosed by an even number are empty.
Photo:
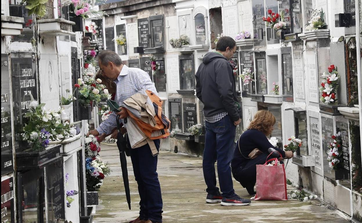
[[[195,69],[192,55],[179,56],[180,60],[180,90],[195,89]]]

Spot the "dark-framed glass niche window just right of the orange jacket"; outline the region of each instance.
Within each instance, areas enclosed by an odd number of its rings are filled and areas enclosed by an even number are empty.
[[[181,98],[169,98],[169,117],[171,120],[171,129],[175,132],[182,132],[182,110]]]

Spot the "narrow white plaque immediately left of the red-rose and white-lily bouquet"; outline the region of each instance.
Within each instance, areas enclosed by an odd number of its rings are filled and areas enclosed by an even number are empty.
[[[306,53],[306,77],[308,80],[309,101],[319,103],[318,77],[317,77],[317,58],[315,53]]]

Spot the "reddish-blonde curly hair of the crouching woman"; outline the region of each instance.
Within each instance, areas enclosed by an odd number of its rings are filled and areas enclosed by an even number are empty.
[[[268,129],[276,122],[275,116],[267,110],[260,110],[254,115],[248,129],[256,129],[264,134],[268,134]]]

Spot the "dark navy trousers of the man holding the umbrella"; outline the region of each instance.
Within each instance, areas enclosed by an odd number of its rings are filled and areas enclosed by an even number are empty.
[[[153,142],[155,142],[156,148],[159,150],[160,140],[153,140]],[[128,146],[131,148],[130,145]],[[146,144],[131,149],[131,160],[141,199],[139,202],[140,219],[162,222],[161,187],[156,172],[157,156],[152,156],[150,146]]]

